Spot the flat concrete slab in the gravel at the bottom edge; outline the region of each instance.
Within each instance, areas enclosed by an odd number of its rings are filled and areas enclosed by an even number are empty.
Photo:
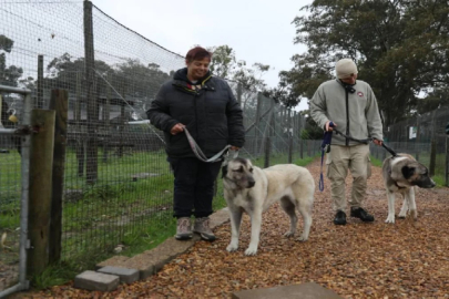
[[[318,283],[282,286],[266,289],[243,290],[233,293],[233,299],[343,299],[336,292],[325,289]]]

